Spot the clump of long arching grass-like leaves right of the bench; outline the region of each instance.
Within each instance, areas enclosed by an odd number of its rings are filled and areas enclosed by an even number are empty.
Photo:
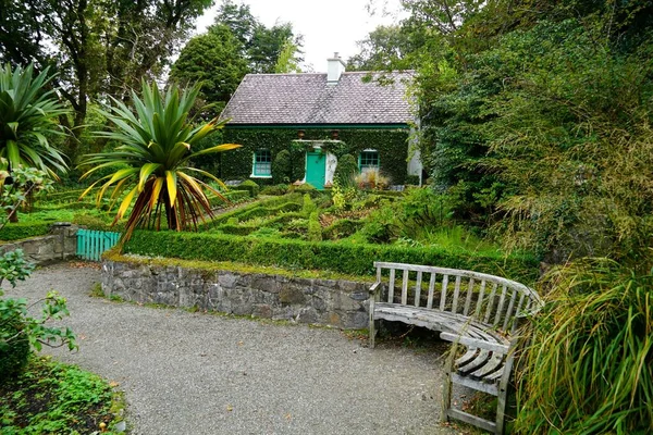
[[[542,285],[551,291],[519,380],[518,433],[651,433],[653,276],[591,259]]]

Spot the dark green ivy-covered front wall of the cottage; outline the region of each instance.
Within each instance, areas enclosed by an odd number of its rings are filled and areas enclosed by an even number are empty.
[[[332,129],[304,129],[305,140],[331,139]],[[301,146],[293,144],[297,139],[296,128],[229,128],[223,132],[223,141],[241,144],[243,148],[220,154],[217,171],[222,179],[247,178],[251,175],[251,156],[258,149],[268,149],[272,160],[284,149],[291,152],[293,179],[304,178],[305,152]],[[346,153],[358,157],[364,149],[379,151],[381,172],[391,178],[392,184],[403,184],[407,174],[408,128],[396,129],[338,129],[341,147],[330,148],[336,157]],[[263,179],[257,179],[257,183]],[[271,183],[271,181],[269,181]]]

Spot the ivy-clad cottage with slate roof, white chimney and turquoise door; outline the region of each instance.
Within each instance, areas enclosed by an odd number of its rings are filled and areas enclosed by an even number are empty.
[[[337,159],[352,154],[360,171],[378,170],[392,184],[421,178],[419,156],[408,149],[411,77],[410,71],[346,72],[337,53],[326,73],[246,75],[221,114],[230,120],[224,141],[244,147],[221,157],[219,175],[263,184],[299,179],[322,189]],[[282,179],[273,162],[284,149],[292,169]]]

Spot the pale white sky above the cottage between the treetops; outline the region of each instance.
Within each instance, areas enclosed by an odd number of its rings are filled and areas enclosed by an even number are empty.
[[[235,3],[241,1],[235,0]],[[346,61],[358,53],[356,42],[378,25],[397,21],[399,0],[372,0],[377,12],[370,16],[370,0],[244,0],[251,14],[267,27],[276,22],[289,22],[295,34],[304,35],[304,58],[307,71],[326,72],[326,59],[334,52]],[[208,10],[197,22],[197,33],[213,23],[221,3]],[[385,12],[383,12],[385,10]]]

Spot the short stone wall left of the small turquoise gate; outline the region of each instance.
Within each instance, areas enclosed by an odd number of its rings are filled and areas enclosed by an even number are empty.
[[[77,225],[54,224],[47,236],[0,245],[0,253],[22,249],[25,258],[35,264],[69,260],[77,251]]]

